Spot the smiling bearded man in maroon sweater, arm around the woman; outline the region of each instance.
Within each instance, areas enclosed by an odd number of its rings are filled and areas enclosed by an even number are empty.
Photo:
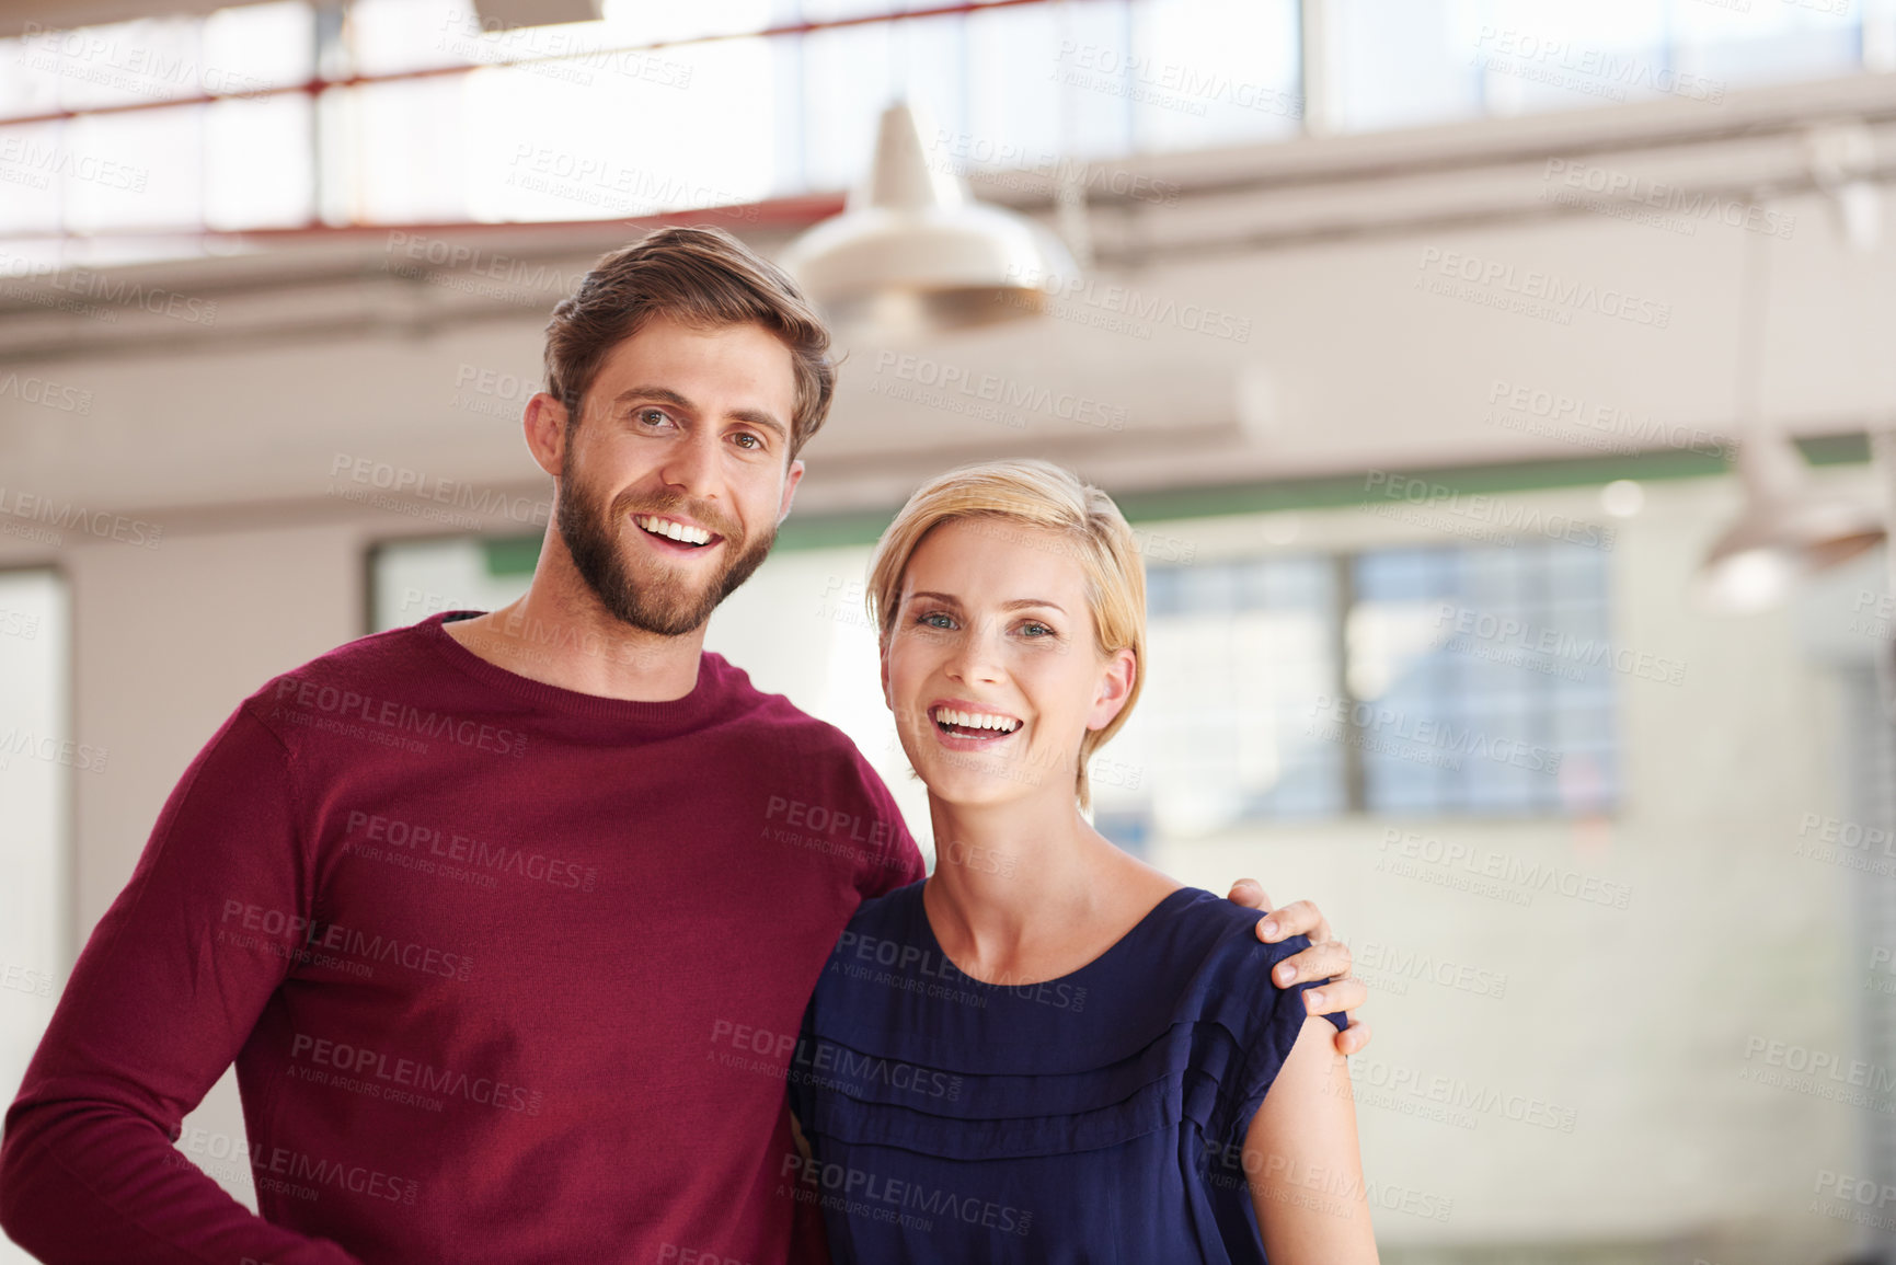
[[[798,1018],[857,903],[921,876],[848,738],[702,651],[789,514],[827,349],[709,229],[607,256],[556,307],[533,584],[277,677],[197,755],[8,1113],[13,1238],[47,1261],[787,1259]],[[1272,922],[1329,939],[1308,907]],[[231,1062],[262,1216],[171,1146]]]

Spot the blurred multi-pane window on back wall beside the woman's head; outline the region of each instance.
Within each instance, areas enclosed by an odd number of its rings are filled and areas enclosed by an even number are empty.
[[[1602,812],[1606,582],[1566,542],[1151,567],[1147,692],[1096,766],[1102,821]]]

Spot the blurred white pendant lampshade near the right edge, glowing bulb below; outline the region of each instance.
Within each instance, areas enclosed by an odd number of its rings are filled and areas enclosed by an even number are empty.
[[[1790,438],[1754,432],[1739,446],[1744,506],[1699,569],[1705,601],[1722,611],[1763,611],[1799,578],[1873,548],[1885,527],[1875,508],[1814,493]]]

